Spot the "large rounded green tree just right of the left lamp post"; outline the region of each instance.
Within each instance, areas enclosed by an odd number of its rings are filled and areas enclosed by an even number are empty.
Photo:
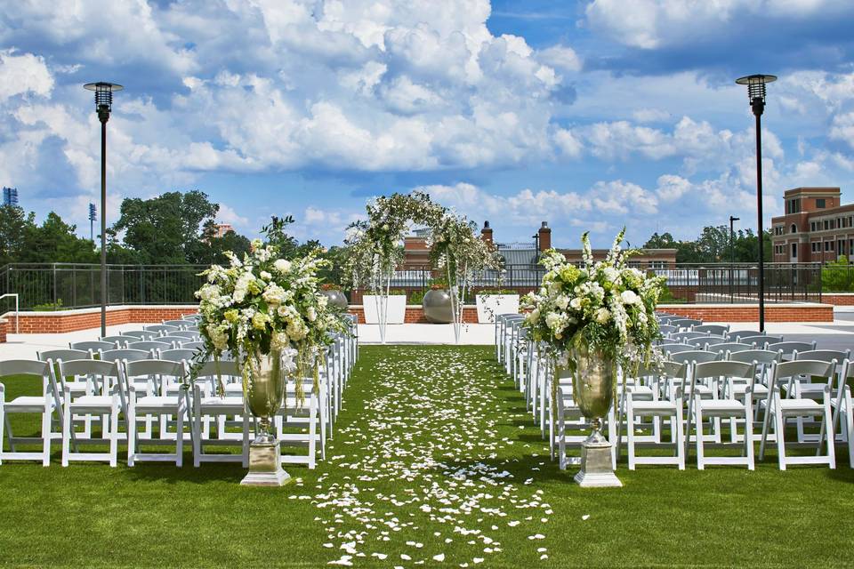
[[[166,192],[150,199],[128,198],[113,226],[142,263],[184,263],[197,249],[202,228],[219,211],[204,192]]]

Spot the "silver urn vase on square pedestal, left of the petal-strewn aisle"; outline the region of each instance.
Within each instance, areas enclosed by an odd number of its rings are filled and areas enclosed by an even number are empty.
[[[286,373],[282,354],[249,354],[243,360],[243,392],[255,418],[255,439],[249,445],[249,473],[240,482],[248,486],[282,486],[291,477],[282,469],[272,421],[285,400]]]

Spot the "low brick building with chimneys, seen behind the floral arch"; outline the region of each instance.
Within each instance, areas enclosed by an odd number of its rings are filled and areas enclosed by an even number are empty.
[[[480,236],[495,243],[498,252],[504,257],[505,265],[514,267],[536,266],[537,257],[540,252],[552,248],[552,228],[543,221],[533,241],[528,243],[496,243],[493,238],[493,230],[489,221],[484,221],[480,229]],[[415,235],[404,239],[404,268],[423,268],[430,264],[430,250],[426,243],[426,231],[416,230]],[[581,262],[581,249],[558,249],[566,258],[572,262]],[[595,260],[604,259],[608,249],[593,249]],[[642,249],[634,255],[629,264],[642,269],[673,268],[676,263],[675,249]]]

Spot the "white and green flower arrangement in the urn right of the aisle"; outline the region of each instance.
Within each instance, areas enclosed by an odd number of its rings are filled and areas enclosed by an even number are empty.
[[[547,272],[537,293],[528,293],[524,326],[544,341],[559,365],[580,342],[613,357],[621,365],[649,362],[652,344],[660,337],[655,310],[664,277],[648,276],[627,267],[630,251],[616,236],[605,260],[594,262],[590,239],[582,236],[583,266],[577,268],[560,252],[544,253]]]

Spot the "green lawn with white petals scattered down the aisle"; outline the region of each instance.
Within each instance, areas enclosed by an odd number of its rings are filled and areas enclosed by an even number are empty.
[[[189,453],[183,469],[63,469],[58,446],[47,469],[4,462],[0,564],[851,563],[854,473],[844,449],[837,470],[780,472],[771,453],[754,472],[622,465],[623,489],[583,490],[575,469],[549,460],[491,348],[360,354],[326,461],[289,469],[297,483],[286,488],[241,487],[239,465],[194,469]]]

